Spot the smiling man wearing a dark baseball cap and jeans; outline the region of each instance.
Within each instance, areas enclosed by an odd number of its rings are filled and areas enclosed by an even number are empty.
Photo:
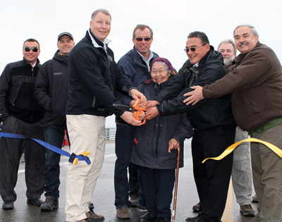
[[[62,147],[66,130],[66,99],[68,96],[68,54],[75,46],[73,35],[63,32],[58,36],[58,50],[54,57],[44,63],[35,83],[35,96],[45,109],[43,126],[45,141],[55,147]],[[44,204],[42,211],[52,211],[59,206],[61,155],[46,149],[44,168]]]

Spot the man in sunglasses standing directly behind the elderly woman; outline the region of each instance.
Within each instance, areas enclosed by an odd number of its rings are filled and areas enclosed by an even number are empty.
[[[134,47],[118,61],[121,73],[135,87],[144,80],[151,79],[149,64],[159,57],[150,50],[153,42],[153,31],[148,25],[137,25],[133,30]],[[118,93],[117,98],[125,105],[133,106],[134,100],[125,94]],[[126,124],[121,118],[116,118],[116,165],[114,170],[115,205],[118,218],[129,218],[130,206],[145,209],[142,186],[138,182],[138,171],[135,164],[130,164],[133,150],[135,127]],[[129,183],[128,183],[129,173]],[[128,192],[130,200],[128,200]],[[139,192],[139,200],[138,200]]]

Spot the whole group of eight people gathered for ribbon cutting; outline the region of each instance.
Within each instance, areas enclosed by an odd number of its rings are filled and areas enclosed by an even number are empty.
[[[147,210],[139,221],[171,221],[178,150],[182,167],[183,142],[192,137],[200,202],[193,206],[199,214],[186,221],[221,221],[231,175],[241,214],[255,216],[253,181],[259,201],[254,221],[280,221],[282,160],[264,144],[245,143],[220,161],[202,164],[247,133],[282,147],[282,67],[274,51],[259,42],[255,27],[239,25],[235,43],[223,41],[218,51],[204,32],[191,32],[184,49],[188,60],[178,73],[167,58],[150,50],[153,31],[148,25],[135,27],[134,47],[118,63],[108,46],[110,31],[109,11],[94,11],[85,37],[75,45],[71,33],[61,33],[58,50],[43,65],[39,42],[27,39],[23,61],[9,63],[0,78],[2,132],[61,147],[67,131],[71,153],[90,153],[90,165],[68,164],[66,221],[104,221],[92,210],[91,199],[104,161],[105,118],[113,113],[118,218],[130,218],[130,206],[137,206]],[[137,101],[146,108],[138,120],[114,106]],[[13,209],[16,201],[23,149],[27,203],[42,211],[58,208],[60,155],[30,140],[4,137],[0,149],[2,208]]]

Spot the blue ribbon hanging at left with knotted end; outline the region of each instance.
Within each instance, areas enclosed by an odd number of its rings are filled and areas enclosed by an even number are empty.
[[[75,158],[77,158],[80,161],[85,161],[88,165],[91,164],[90,159],[87,156],[84,156],[82,154],[76,156],[75,154],[69,154],[68,152],[64,151],[63,149],[60,149],[58,147],[54,147],[51,144],[44,142],[42,140],[37,140],[37,139],[33,139],[31,137],[27,137],[25,135],[18,135],[18,134],[13,134],[13,133],[6,133],[6,132],[0,132],[0,137],[6,137],[6,138],[13,138],[13,139],[20,139],[20,140],[33,140],[35,142],[37,142],[38,144],[42,145],[42,147],[45,147],[57,154],[61,154],[63,156],[68,156],[69,159],[68,161],[70,163],[73,164],[73,161],[75,160]]]

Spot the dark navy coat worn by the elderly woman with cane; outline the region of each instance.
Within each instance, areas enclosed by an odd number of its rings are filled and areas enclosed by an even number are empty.
[[[138,87],[147,99],[154,99],[166,82],[158,85],[147,81]],[[135,144],[130,162],[138,166],[158,169],[174,169],[177,164],[177,149],[168,153],[168,142],[174,138],[180,144],[180,167],[183,167],[183,141],[190,138],[193,130],[187,113],[157,116],[136,128]]]

